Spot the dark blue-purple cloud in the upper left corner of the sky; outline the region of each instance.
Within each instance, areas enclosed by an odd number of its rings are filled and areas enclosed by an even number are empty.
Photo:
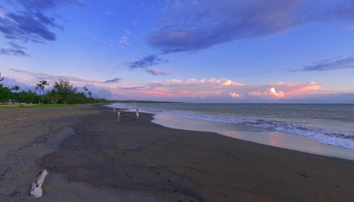
[[[0,12],[0,33],[10,43],[16,42],[16,44],[18,42],[45,43],[46,41],[55,41],[57,36],[50,28],[59,30],[64,30],[64,28],[55,23],[55,17],[48,16],[48,13],[59,6],[70,4],[84,6],[75,0],[15,0],[8,2],[13,2],[13,4],[6,4],[8,11]],[[23,10],[18,11],[18,8],[23,8]],[[14,52],[13,49],[4,48],[1,49],[1,53],[24,54],[24,52]]]

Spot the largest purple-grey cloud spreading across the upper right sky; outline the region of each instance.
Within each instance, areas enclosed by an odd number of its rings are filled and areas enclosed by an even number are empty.
[[[163,54],[195,52],[307,23],[351,21],[353,10],[354,2],[348,0],[183,1],[166,10],[172,14],[152,31],[147,43]]]

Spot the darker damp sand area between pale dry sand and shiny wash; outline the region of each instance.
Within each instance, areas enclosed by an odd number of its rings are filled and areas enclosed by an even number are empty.
[[[119,193],[156,201],[350,201],[354,162],[241,141],[218,133],[170,129],[153,114],[108,107],[82,117],[76,134],[41,166]]]

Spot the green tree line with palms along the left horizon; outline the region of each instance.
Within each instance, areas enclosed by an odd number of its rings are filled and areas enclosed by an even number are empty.
[[[4,78],[1,78],[0,82]],[[0,83],[0,102],[42,102],[50,104],[86,104],[86,103],[102,103],[108,102],[103,98],[95,99],[92,97],[92,93],[86,86],[84,86],[84,93],[79,92],[78,88],[74,87],[67,79],[63,80],[59,78],[59,81],[55,81],[52,85],[52,90],[45,90],[45,86],[50,85],[47,81],[40,81],[35,85],[35,89],[39,90],[39,95],[36,92],[28,90],[27,92],[21,89],[20,86],[14,85],[4,87],[3,83]],[[21,91],[22,90],[22,91]],[[87,96],[89,95],[89,96]]]

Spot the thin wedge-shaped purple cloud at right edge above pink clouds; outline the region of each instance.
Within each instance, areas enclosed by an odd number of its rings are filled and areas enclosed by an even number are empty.
[[[346,68],[354,68],[354,55],[344,59],[332,58],[315,61],[312,64],[304,66],[302,69],[294,71],[331,71]]]

